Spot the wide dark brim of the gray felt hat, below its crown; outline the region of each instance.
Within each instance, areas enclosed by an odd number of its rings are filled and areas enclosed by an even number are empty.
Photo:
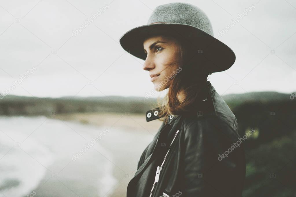
[[[235,54],[226,44],[212,35],[187,24],[155,23],[135,27],[120,38],[120,45],[131,55],[146,60],[143,42],[149,35],[173,33],[182,36],[195,45],[199,51],[202,65],[209,72],[221,72],[230,68],[235,62]]]

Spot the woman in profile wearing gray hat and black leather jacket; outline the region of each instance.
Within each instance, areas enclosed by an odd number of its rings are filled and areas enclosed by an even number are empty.
[[[234,52],[210,20],[186,3],[157,6],[121,46],[145,60],[156,91],[168,89],[147,122],[163,124],[139,158],[127,196],[242,196],[245,152],[232,111],[207,76],[230,68]]]

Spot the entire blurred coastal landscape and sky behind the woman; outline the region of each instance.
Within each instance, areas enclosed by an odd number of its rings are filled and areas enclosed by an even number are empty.
[[[296,1],[0,1],[0,197],[126,196],[161,123],[144,63],[119,44],[171,2],[236,54],[208,78],[238,120],[244,197],[296,196]]]

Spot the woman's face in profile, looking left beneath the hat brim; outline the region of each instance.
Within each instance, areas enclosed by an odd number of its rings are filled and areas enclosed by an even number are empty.
[[[149,71],[155,90],[163,91],[182,70],[178,62],[179,45],[173,38],[164,36],[146,38],[143,44],[144,52],[147,54],[143,69]]]

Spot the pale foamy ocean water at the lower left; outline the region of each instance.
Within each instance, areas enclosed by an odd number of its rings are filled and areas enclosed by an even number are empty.
[[[99,133],[107,138],[105,129],[45,116],[0,116],[0,197],[108,196],[118,183],[113,155],[93,140]]]

